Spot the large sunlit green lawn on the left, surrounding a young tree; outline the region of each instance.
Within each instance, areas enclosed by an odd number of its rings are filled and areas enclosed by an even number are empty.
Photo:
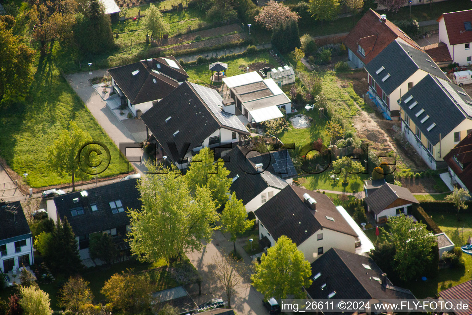
[[[0,155],[8,165],[18,174],[28,173],[26,181],[31,187],[70,183],[70,177],[48,170],[46,147],[74,120],[90,133],[93,141],[102,142],[110,150],[110,165],[99,176],[125,172],[127,165],[119,161],[118,148],[60,77],[54,63],[50,59],[39,60],[34,71],[26,100],[0,108]]]

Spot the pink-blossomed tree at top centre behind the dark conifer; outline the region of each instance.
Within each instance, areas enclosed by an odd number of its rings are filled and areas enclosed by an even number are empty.
[[[268,31],[271,31],[279,23],[297,22],[298,19],[299,16],[296,12],[275,0],[267,2],[266,6],[262,7],[259,14],[255,17],[255,21],[264,26]]]

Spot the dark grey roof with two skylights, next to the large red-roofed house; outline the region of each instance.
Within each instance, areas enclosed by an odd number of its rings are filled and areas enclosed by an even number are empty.
[[[384,69],[377,74],[377,71],[382,67]],[[398,86],[402,85],[418,69],[449,81],[426,52],[414,49],[410,45],[398,40],[390,43],[364,68],[386,94],[395,91]],[[390,74],[390,77],[382,82],[382,79],[388,74]]]

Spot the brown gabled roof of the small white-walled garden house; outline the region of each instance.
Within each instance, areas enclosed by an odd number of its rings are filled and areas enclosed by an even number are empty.
[[[371,195],[367,196],[365,202],[369,207],[371,207],[371,210],[374,213],[379,214],[397,199],[403,199],[418,204],[418,200],[416,200],[407,188],[392,185],[390,183],[385,183]]]

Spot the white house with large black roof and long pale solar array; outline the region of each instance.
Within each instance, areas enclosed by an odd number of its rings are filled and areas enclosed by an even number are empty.
[[[234,113],[235,103],[223,102],[216,90],[185,81],[142,119],[158,142],[159,156],[184,169],[203,147],[231,149],[249,140],[250,133]]]

